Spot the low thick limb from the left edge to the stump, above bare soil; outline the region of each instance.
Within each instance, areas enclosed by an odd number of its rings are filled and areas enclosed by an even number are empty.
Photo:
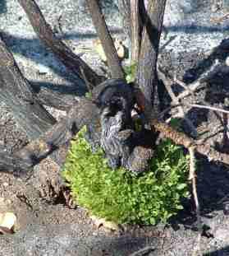
[[[54,153],[52,158],[57,165],[61,165],[65,161],[71,138],[95,119],[98,119],[97,106],[91,100],[79,98],[64,119],[20,151],[9,154],[0,150],[0,170],[23,175],[51,153]]]

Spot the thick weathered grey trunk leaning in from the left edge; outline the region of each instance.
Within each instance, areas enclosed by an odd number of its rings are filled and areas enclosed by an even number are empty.
[[[46,132],[56,122],[34,95],[6,44],[0,39],[0,87],[2,100],[30,139]]]

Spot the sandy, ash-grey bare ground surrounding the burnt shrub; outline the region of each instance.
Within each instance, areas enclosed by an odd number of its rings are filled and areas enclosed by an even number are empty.
[[[85,1],[38,0],[37,3],[57,35],[91,67],[102,72],[100,66],[103,63],[93,49],[93,40],[97,36]],[[112,35],[128,44],[121,30],[117,2],[103,1],[103,6]],[[190,82],[216,59],[219,63],[225,63],[227,51],[215,54],[215,49],[228,37],[227,12],[227,7],[222,6],[220,1],[167,1],[159,56],[163,69],[171,76],[176,74],[179,79]],[[39,86],[77,86],[76,94],[84,93],[85,88],[77,77],[69,76],[66,68],[40,44],[17,1],[0,1],[0,30],[30,82]],[[218,74],[195,98],[187,100],[205,100],[211,105],[222,107],[227,98],[228,78],[227,72]],[[222,98],[216,96],[219,91],[224,93]],[[57,119],[65,114],[56,109],[49,110]],[[229,194],[229,171],[227,165],[220,161],[220,153],[215,153],[215,160],[218,161],[210,161],[208,157],[215,142],[220,143],[222,139],[220,119],[210,111],[187,110],[199,133],[202,131],[209,137],[205,156],[199,156],[198,172],[202,217],[209,228],[208,234],[201,240],[202,254],[229,255],[229,218],[223,213],[223,202],[227,201]],[[27,141],[11,110],[1,103],[0,147],[16,151]],[[197,233],[194,228],[194,209],[190,204],[172,220],[171,226],[135,227],[135,232],[112,234],[103,228],[96,228],[80,207],[73,210],[62,203],[45,202],[40,198],[34,183],[35,177],[25,182],[10,175],[0,175],[0,212],[15,212],[19,223],[15,235],[0,236],[1,256],[130,255],[146,245],[155,247],[149,255],[184,256],[192,255],[195,249]],[[21,201],[20,198],[27,198],[27,201]]]

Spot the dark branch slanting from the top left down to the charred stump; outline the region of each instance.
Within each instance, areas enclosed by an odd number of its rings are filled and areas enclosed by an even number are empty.
[[[42,12],[34,0],[18,0],[25,10],[35,33],[45,46],[52,50],[53,54],[80,79],[86,80],[91,86],[96,86],[103,81],[80,57],[74,54],[62,40],[57,39],[53,30],[45,21]]]

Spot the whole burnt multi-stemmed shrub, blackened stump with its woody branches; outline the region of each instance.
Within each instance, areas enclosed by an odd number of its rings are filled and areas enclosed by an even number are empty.
[[[153,96],[158,86],[158,45],[166,0],[149,2],[147,11],[140,7],[140,2],[143,2],[141,0],[123,0],[130,6],[128,18],[132,19],[131,32],[138,41],[134,58],[139,60],[137,81],[142,91],[126,85],[121,63],[97,0],[86,2],[107,54],[112,77],[122,78],[111,79],[102,84],[100,81],[103,81],[103,77],[99,77],[84,61],[73,54],[66,44],[57,39],[34,0],[19,2],[39,39],[48,49],[51,49],[71,72],[90,86],[99,86],[92,90],[92,100],[84,97],[73,100],[71,97],[69,104],[52,91],[39,91],[38,87],[32,87],[22,76],[13,56],[0,40],[0,99],[11,107],[17,122],[31,139],[30,143],[13,155],[0,150],[0,170],[26,174],[39,161],[55,151],[64,152],[57,154],[57,162],[63,162],[69,141],[84,125],[88,127],[89,142],[92,146],[99,144],[103,147],[111,167],[122,165],[135,173],[144,171],[149,159],[153,157],[157,137],[154,131],[164,133],[165,137],[185,147],[195,146],[195,142],[189,137],[158,122],[158,119],[151,119]],[[131,10],[135,12],[135,18],[140,15],[137,20],[133,20]],[[65,118],[56,123],[41,104],[69,111]],[[151,130],[145,130],[143,122],[141,131],[135,131],[131,118],[131,110],[135,104],[144,110]]]

